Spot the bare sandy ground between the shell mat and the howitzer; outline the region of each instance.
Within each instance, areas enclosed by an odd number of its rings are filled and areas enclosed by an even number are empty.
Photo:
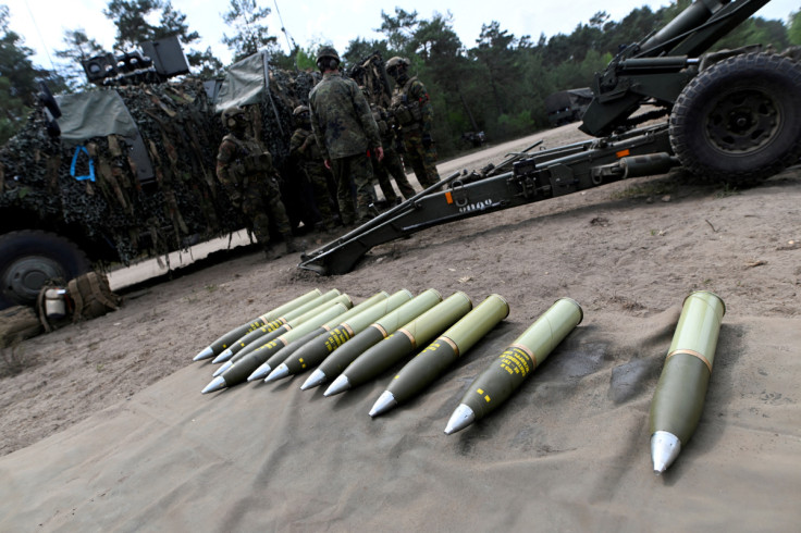
[[[443,163],[440,172],[497,162],[540,137],[556,146],[581,135],[564,126]],[[560,296],[579,300],[588,315],[648,318],[693,289],[722,295],[729,314],[798,317],[800,185],[798,169],[743,190],[680,172],[630,179],[428,230],[377,247],[336,277],[299,271],[295,256],[264,262],[256,251],[241,253],[17,346],[24,371],[0,381],[0,455],[130,400],[192,364],[218,335],[312,287],[337,287],[357,300],[402,287],[460,289],[477,302],[498,293],[518,325]],[[309,240],[310,248],[323,243]],[[151,275],[114,273],[112,283],[125,294]]]

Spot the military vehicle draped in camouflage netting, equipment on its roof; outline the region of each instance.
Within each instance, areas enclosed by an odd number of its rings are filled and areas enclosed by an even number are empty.
[[[84,62],[97,90],[46,87],[24,129],[0,148],[0,309],[33,303],[49,280],[128,264],[246,227],[214,175],[219,119],[245,106],[282,170],[292,110],[312,74],[256,53],[223,79],[186,74],[177,40]]]

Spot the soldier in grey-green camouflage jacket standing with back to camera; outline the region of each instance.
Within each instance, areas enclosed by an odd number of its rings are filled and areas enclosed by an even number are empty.
[[[322,80],[309,94],[311,129],[323,152],[325,166],[333,170],[336,198],[343,225],[370,220],[372,163],[370,151],[384,157],[379,127],[359,86],[340,73],[340,55],[332,47],[321,47],[317,66]],[[356,187],[356,210],[350,197]]]

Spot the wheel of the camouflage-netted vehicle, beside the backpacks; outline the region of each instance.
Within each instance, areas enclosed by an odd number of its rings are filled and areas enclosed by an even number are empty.
[[[67,282],[91,269],[70,240],[40,231],[0,235],[0,309],[33,306],[48,280]]]

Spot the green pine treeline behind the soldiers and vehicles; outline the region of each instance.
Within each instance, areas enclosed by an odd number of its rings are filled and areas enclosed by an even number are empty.
[[[467,132],[482,131],[491,141],[501,141],[547,127],[543,108],[547,95],[589,86],[593,74],[607,65],[621,45],[642,40],[689,4],[690,0],[678,0],[656,11],[636,8],[620,21],[599,11],[569,35],[541,35],[538,39],[510,34],[490,20],[472,44],[461,42],[451,13],[423,18],[416,11],[395,8],[393,13],[382,11],[380,28],[366,28],[377,29],[383,38],[356,38],[340,53],[345,69],[374,51],[384,59],[408,58],[434,106],[433,137],[440,154],[448,156],[464,148],[460,139]],[[300,47],[287,35],[292,49],[287,53],[266,24],[269,8],[260,7],[257,0],[230,0],[227,9],[223,22],[231,32],[224,35],[223,44],[234,62],[266,49],[272,63],[282,69],[315,67],[315,52],[325,42]],[[110,0],[103,14],[116,27],[115,53],[176,35],[193,75],[211,78],[224,71],[210,48],[196,49],[200,36],[169,0]],[[801,45],[801,11],[788,15],[787,23],[751,17],[713,49],[762,44],[782,50]],[[33,51],[9,28],[9,9],[0,4],[0,144],[23,124],[38,82],[46,82],[54,92],[84,90],[88,85],[81,61],[108,52],[84,28],[64,32],[63,45],[54,51],[51,70],[35,66]]]

